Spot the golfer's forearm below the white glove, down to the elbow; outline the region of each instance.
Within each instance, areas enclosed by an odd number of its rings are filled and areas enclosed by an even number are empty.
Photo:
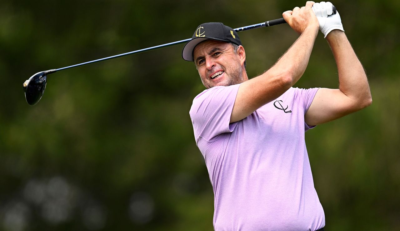
[[[326,37],[336,60],[339,89],[355,105],[368,106],[372,102],[368,80],[344,32],[333,30]]]

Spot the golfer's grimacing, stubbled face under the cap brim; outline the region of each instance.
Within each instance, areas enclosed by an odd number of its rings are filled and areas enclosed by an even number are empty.
[[[227,42],[201,42],[194,48],[193,58],[206,88],[243,82],[239,56]]]

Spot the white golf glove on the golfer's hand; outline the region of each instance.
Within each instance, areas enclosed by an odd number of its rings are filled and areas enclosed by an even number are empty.
[[[324,34],[324,38],[326,38],[332,30],[338,29],[344,31],[339,12],[336,11],[336,14],[333,14],[332,6],[330,2],[316,2],[312,5],[312,10],[317,16],[318,22],[320,23],[320,30],[322,34]]]

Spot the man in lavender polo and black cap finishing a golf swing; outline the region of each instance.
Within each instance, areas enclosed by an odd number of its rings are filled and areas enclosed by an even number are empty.
[[[274,66],[250,80],[232,28],[202,24],[185,45],[183,58],[194,61],[207,88],[194,98],[190,117],[214,191],[215,230],[323,230],[304,132],[372,102],[340,16],[331,14],[329,2],[284,12],[300,36]],[[332,48],[339,89],[292,88],[318,29]]]

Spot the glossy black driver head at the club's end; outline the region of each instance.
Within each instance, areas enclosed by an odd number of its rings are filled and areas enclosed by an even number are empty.
[[[24,82],[25,98],[29,105],[35,105],[42,98],[46,88],[46,74],[46,71],[38,72]]]

